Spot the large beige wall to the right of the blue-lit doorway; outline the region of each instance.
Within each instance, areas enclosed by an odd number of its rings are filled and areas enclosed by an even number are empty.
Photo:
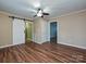
[[[86,11],[57,18],[59,42],[86,49]]]

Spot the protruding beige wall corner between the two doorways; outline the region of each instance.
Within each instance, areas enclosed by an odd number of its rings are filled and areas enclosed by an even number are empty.
[[[34,21],[34,41],[37,43],[44,43],[47,39],[47,21],[38,17]]]

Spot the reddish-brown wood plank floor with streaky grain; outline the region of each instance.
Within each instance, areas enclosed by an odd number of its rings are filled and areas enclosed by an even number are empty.
[[[27,42],[0,49],[0,63],[78,63],[86,62],[86,50],[49,42]]]

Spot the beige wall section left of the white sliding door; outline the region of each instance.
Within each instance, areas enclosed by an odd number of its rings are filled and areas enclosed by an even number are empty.
[[[12,44],[12,20],[0,13],[0,47]]]

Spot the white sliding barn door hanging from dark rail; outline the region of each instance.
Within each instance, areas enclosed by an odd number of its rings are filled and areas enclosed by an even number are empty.
[[[25,23],[23,20],[14,18],[13,21],[13,44],[25,42]]]

